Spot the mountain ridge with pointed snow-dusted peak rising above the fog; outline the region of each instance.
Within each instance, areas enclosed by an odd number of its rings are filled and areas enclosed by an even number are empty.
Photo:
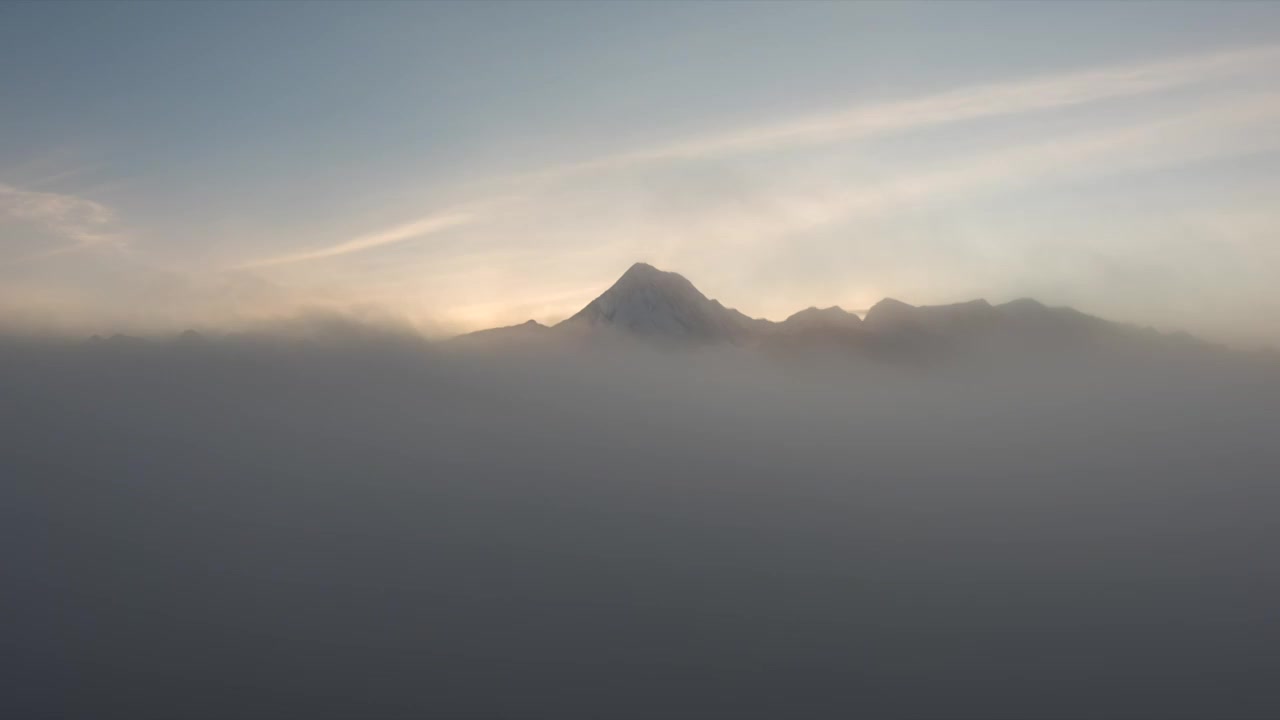
[[[916,306],[887,297],[873,305],[865,318],[835,306],[808,307],[774,323],[726,307],[684,275],[645,263],[631,265],[612,287],[562,323],[547,327],[529,320],[468,333],[457,341],[493,346],[603,337],[771,350],[840,347],[872,355],[1006,347],[1053,350],[1134,341],[1203,345],[1185,333],[1164,336],[1030,299],[1004,305],[970,300]]]

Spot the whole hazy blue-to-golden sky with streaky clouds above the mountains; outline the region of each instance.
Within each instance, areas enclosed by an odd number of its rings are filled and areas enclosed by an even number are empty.
[[[0,5],[0,318],[1030,295],[1280,342],[1280,4]]]

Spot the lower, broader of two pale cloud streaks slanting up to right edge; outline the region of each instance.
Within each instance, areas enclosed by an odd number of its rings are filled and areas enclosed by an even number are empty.
[[[708,252],[744,254],[769,243],[804,240],[806,233],[892,214],[906,206],[947,202],[969,193],[1028,188],[1071,177],[1100,177],[1174,168],[1215,158],[1252,155],[1280,149],[1267,133],[1280,119],[1280,95],[1233,96],[1230,101],[1172,117],[1071,136],[1053,137],[996,151],[955,158],[941,164],[901,169],[876,182],[836,182],[805,192],[768,192],[748,205],[732,204],[698,215],[655,218],[632,228],[630,238],[608,228],[553,225],[553,234],[571,246],[591,247],[626,260],[637,252],[653,256],[650,238],[667,238],[672,255],[660,263],[681,264]],[[553,220],[554,222],[554,220]],[[526,227],[536,227],[526,222]],[[545,228],[544,228],[545,229]],[[605,246],[605,238],[612,246]],[[709,251],[716,246],[724,250]],[[728,250],[732,249],[732,250]],[[687,250],[687,251],[686,251]],[[563,247],[557,252],[563,254]],[[750,252],[746,252],[748,255]],[[433,266],[430,273],[454,273]],[[599,292],[600,288],[594,288]],[[579,305],[590,300],[584,292]],[[777,311],[758,314],[776,316]],[[503,316],[502,322],[517,322]],[[497,323],[502,324],[502,323]],[[472,325],[476,329],[483,325]]]

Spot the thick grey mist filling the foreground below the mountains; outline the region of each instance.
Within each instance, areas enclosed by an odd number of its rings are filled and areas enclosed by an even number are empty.
[[[12,717],[1275,717],[1280,366],[0,342]]]

